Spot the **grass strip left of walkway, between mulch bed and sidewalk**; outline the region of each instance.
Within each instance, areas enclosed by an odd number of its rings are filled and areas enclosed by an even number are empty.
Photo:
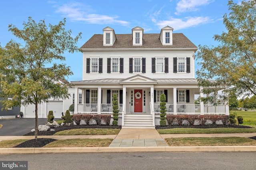
[[[56,132],[54,135],[117,135],[120,129],[69,129]]]

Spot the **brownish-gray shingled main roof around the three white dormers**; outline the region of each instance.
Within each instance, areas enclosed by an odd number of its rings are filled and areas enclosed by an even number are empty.
[[[94,34],[81,49],[197,48],[183,33],[173,33],[172,44],[162,45],[157,33],[143,35],[142,45],[132,45],[132,34],[116,34],[113,46],[103,46],[103,34]]]

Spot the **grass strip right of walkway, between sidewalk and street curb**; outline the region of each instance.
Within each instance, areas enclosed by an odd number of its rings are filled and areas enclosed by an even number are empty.
[[[244,137],[185,137],[166,138],[170,147],[176,146],[255,146],[256,140]]]

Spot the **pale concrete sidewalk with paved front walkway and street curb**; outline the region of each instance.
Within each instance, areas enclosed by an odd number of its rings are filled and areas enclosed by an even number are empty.
[[[118,135],[38,136],[52,139],[114,139],[109,147],[78,148],[0,148],[0,153],[54,153],[54,152],[211,152],[256,151],[256,146],[168,147],[165,138],[177,137],[254,137],[256,133],[167,134],[156,129],[121,129]],[[2,140],[34,139],[34,136],[0,136]]]

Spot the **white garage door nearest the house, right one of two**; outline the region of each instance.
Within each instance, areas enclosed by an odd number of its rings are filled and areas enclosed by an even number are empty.
[[[47,115],[49,111],[53,111],[55,118],[61,118],[63,112],[63,102],[62,101],[49,101],[47,102]],[[47,116],[46,116],[47,117]]]

